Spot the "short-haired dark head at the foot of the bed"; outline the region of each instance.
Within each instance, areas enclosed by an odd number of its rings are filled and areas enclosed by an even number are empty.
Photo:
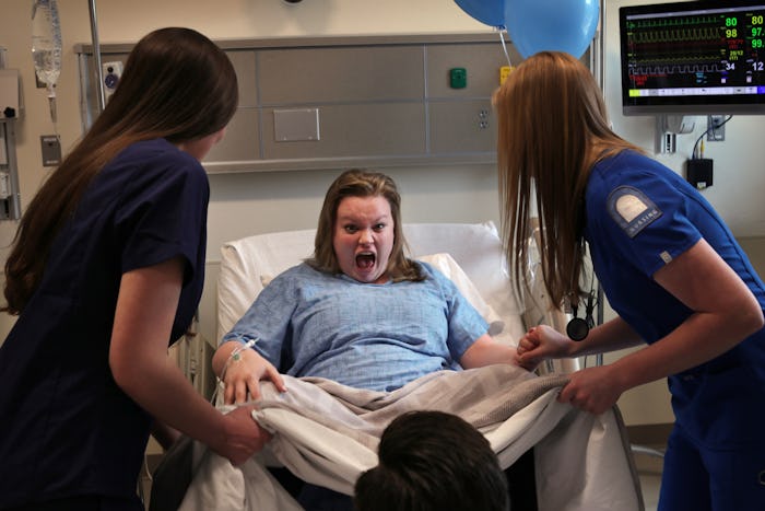
[[[443,411],[412,411],[382,433],[379,464],[356,480],[358,511],[507,511],[507,479],[489,441]]]

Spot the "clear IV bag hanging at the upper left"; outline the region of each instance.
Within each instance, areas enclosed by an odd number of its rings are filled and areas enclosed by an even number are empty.
[[[61,25],[56,0],[33,0],[32,5],[32,57],[35,73],[55,95],[54,86],[61,72]]]

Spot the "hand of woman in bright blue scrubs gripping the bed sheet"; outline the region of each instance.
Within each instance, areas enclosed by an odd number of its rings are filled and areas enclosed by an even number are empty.
[[[624,392],[619,380],[610,365],[582,369],[569,375],[568,383],[558,393],[557,400],[600,415],[615,405]]]

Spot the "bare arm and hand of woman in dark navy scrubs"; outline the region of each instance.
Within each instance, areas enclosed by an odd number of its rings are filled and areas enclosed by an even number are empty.
[[[240,464],[269,438],[251,418],[251,408],[221,414],[167,356],[183,274],[184,262],[178,257],[122,276],[109,348],[111,373],[155,420]]]

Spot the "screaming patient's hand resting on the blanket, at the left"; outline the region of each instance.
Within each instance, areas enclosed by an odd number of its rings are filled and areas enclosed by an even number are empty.
[[[223,400],[226,405],[260,398],[260,381],[271,381],[279,392],[286,392],[284,380],[276,368],[254,349],[244,349],[237,360],[226,367],[223,383]],[[249,399],[248,399],[249,395]]]

